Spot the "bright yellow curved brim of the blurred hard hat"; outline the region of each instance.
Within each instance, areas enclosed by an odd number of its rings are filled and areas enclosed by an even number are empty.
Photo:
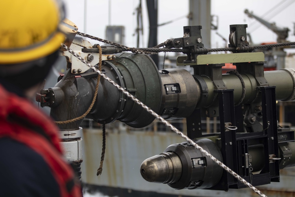
[[[48,56],[58,50],[64,41],[65,35],[57,31],[46,43],[37,47],[22,51],[0,51],[0,64],[18,64]]]

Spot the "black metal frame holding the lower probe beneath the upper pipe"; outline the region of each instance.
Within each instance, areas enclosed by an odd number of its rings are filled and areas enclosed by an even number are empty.
[[[201,132],[201,110],[195,110],[187,118],[187,134],[191,139],[219,136],[221,138],[221,152],[223,163],[233,171],[250,182],[248,161],[245,154],[248,153],[250,142],[260,141],[264,148],[264,165],[259,174],[253,175],[253,185],[265,185],[270,182],[279,181],[279,162],[271,160],[270,157],[278,156],[278,130],[276,117],[276,95],[274,86],[258,87],[261,92],[262,113],[263,113],[263,131],[253,133],[243,132],[241,105],[234,107],[234,98],[232,89],[215,90],[219,100],[219,117],[221,133],[210,133],[202,135]],[[269,123],[269,124],[268,124]],[[229,130],[226,126],[237,126],[236,130]],[[242,128],[241,128],[242,127]],[[271,155],[271,156],[269,156]],[[229,188],[245,188],[246,186],[237,181],[232,175],[223,172],[222,178],[211,190],[224,190]]]

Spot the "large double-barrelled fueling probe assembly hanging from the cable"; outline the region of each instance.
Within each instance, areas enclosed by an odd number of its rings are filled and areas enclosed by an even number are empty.
[[[183,27],[187,36],[172,39],[170,44],[183,48],[186,56],[178,57],[177,64],[191,66],[194,74],[185,69],[159,71],[146,54],[122,53],[117,57],[122,48],[114,46],[101,46],[101,72],[163,118],[186,118],[189,138],[256,186],[278,182],[279,169],[295,165],[294,131],[278,128],[276,118],[276,100],[295,99],[295,69],[264,72],[264,54],[251,52],[254,47],[247,42],[246,27],[230,25],[229,47],[234,50],[228,54],[207,54],[209,49],[201,43],[201,26]],[[71,48],[97,66],[100,55],[96,45],[74,38]],[[37,97],[41,106],[51,107],[55,121],[85,113],[98,76],[69,53],[62,55],[68,63],[65,75]],[[222,75],[225,63],[235,64],[237,71]],[[217,116],[221,132],[202,135],[201,117]],[[155,119],[103,78],[86,118],[102,124],[119,120],[136,128]],[[81,131],[82,121],[60,124],[60,132]],[[80,145],[73,148],[76,146],[67,149],[81,151]],[[73,161],[77,165],[82,162],[80,158]],[[227,191],[245,187],[188,142],[168,146],[164,153],[146,159],[140,173],[147,181],[167,183],[175,189]]]

